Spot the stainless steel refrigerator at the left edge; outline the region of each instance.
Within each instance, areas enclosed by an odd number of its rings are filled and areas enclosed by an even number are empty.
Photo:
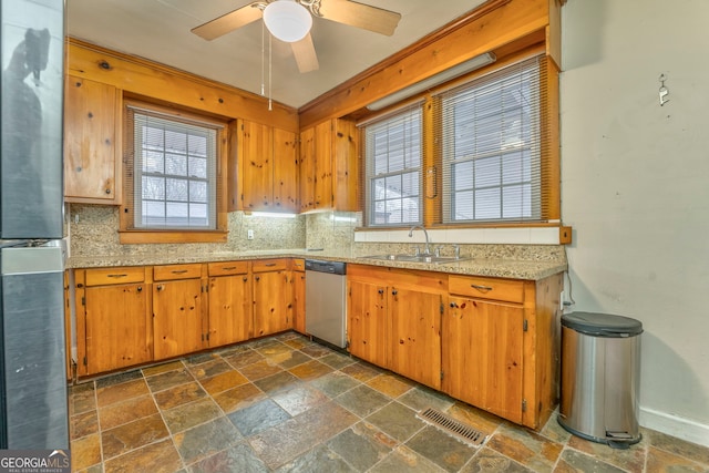
[[[68,449],[63,0],[0,0],[0,449]]]

